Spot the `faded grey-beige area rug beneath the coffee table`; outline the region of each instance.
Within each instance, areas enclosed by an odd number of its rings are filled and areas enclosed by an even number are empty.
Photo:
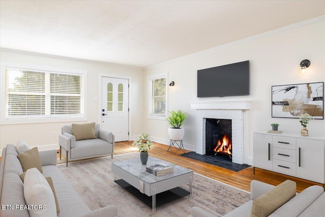
[[[193,197],[183,197],[161,205],[152,214],[152,209],[136,197],[122,189],[114,180],[111,163],[131,158],[139,158],[139,153],[119,154],[111,157],[85,160],[58,165],[58,168],[69,179],[78,194],[91,210],[115,204],[119,216],[182,216],[190,214],[192,206],[199,206],[222,216],[250,200],[246,191],[231,187],[222,182],[194,173],[192,186]],[[189,185],[181,188],[189,190]]]

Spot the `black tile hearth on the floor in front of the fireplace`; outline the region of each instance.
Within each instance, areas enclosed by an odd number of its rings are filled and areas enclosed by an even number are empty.
[[[212,165],[215,165],[218,167],[223,167],[225,169],[229,169],[229,170],[232,170],[235,172],[238,172],[240,170],[246,169],[247,167],[250,167],[247,164],[233,163],[230,160],[230,157],[225,154],[218,154],[218,156],[215,157],[215,156],[198,154],[198,153],[192,151],[192,152],[180,154],[180,156],[190,158],[193,160],[197,160],[197,161],[201,161],[204,163],[212,164]]]

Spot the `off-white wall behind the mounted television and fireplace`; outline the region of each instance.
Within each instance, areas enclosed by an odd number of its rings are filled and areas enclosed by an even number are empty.
[[[190,45],[189,45],[190,46]],[[172,49],[172,48],[171,48]],[[309,59],[307,76],[298,75],[300,61]],[[250,61],[250,95],[241,97],[197,98],[197,70],[239,61]],[[325,19],[306,21],[229,45],[213,48],[166,63],[149,67],[146,76],[169,72],[169,110],[190,111],[190,102],[251,101],[249,117],[249,151],[245,163],[252,160],[252,134],[271,130],[278,122],[279,130],[300,133],[299,119],[271,117],[271,86],[325,81]],[[147,102],[147,99],[146,99]],[[146,116],[145,116],[146,118]],[[145,119],[145,132],[160,142],[169,142],[167,121]],[[184,146],[195,145],[195,112],[191,110],[184,123]],[[325,136],[325,120],[311,120],[310,134]]]

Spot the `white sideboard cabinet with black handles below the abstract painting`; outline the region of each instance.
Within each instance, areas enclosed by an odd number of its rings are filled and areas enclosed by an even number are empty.
[[[254,174],[255,167],[315,181],[325,187],[325,136],[255,132]]]

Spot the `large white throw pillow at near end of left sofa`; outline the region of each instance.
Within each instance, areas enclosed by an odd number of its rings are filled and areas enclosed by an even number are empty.
[[[24,178],[24,198],[27,205],[36,208],[28,209],[30,216],[55,216],[55,200],[51,187],[45,177],[36,168],[26,171]]]

